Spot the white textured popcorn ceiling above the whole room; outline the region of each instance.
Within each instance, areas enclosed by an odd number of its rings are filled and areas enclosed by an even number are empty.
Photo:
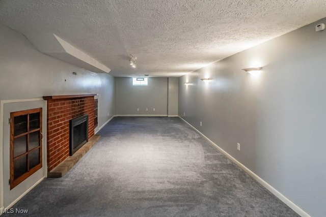
[[[111,75],[181,76],[326,16],[322,0],[0,0],[0,23],[56,34]],[[137,56],[137,68],[128,55]]]

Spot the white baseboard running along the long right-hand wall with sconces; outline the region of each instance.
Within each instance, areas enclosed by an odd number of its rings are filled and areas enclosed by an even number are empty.
[[[195,127],[193,127],[190,123],[188,123],[185,119],[179,116],[184,122],[186,122],[189,126],[191,126],[197,133],[199,133],[204,139],[206,139],[214,148],[218,149],[221,153],[223,153],[227,158],[229,158],[233,163],[238,165],[244,172],[247,172],[251,177],[253,177],[256,181],[258,181],[263,187],[265,187],[269,192],[274,194],[277,198],[279,198],[283,203],[285,203],[288,207],[293,209],[298,215],[302,217],[311,217],[307,212],[305,212],[302,208],[298,207],[295,203],[293,203],[291,200],[289,200],[287,197],[282,195],[278,190],[273,188],[270,184],[268,184],[266,181],[264,181],[262,178],[260,178],[258,175],[256,175],[253,171],[248,169],[246,166],[238,162],[235,158],[233,158],[228,152],[223,150],[221,147],[216,145],[214,142],[212,142],[210,139],[208,139],[204,134],[202,134],[199,130],[197,130]]]

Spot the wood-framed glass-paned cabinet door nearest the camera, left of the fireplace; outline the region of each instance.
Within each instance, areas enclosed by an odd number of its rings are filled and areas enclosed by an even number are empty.
[[[10,190],[42,168],[42,108],[10,113]]]

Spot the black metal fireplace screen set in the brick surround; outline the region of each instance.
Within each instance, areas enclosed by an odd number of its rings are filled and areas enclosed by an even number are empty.
[[[71,119],[69,129],[69,154],[72,156],[88,142],[88,114]]]

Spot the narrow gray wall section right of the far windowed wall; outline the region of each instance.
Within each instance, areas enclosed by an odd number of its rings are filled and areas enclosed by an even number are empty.
[[[179,79],[176,77],[169,78],[168,90],[168,116],[178,115],[178,86]]]

